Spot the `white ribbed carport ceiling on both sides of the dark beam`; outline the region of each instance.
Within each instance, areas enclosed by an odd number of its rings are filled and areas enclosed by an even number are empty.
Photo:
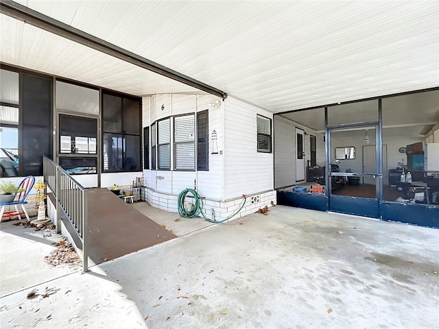
[[[439,1],[16,1],[273,112],[439,86]],[[134,95],[187,92],[1,15],[1,60]]]

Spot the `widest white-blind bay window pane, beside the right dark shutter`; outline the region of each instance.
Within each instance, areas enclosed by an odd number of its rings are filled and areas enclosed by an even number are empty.
[[[175,169],[195,170],[195,116],[174,118]]]

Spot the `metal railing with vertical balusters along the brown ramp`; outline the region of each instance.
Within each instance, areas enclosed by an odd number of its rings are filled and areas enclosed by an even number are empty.
[[[64,210],[82,242],[82,270],[88,271],[88,198],[86,189],[62,167],[44,156],[43,175],[56,198],[56,228],[60,232]]]

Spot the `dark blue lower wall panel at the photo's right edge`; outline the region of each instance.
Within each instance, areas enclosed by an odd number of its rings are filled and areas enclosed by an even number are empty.
[[[401,221],[429,228],[439,228],[439,206],[381,202],[383,221]]]

